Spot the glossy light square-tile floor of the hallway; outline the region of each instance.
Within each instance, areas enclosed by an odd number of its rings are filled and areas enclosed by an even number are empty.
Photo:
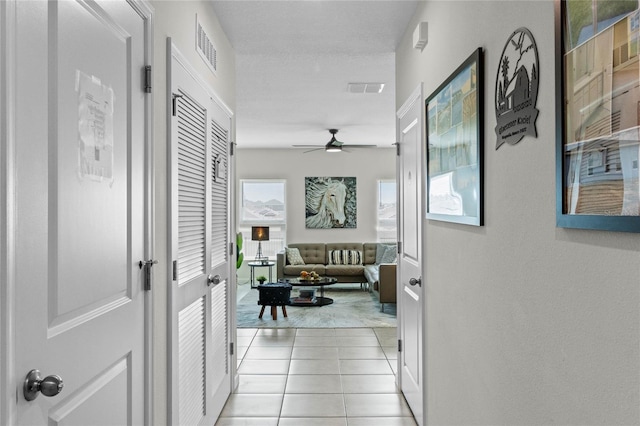
[[[416,425],[395,328],[239,328],[240,383],[216,426]]]

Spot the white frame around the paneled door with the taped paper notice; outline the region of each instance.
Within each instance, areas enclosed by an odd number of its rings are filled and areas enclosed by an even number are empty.
[[[15,424],[17,418],[15,369],[15,83],[16,4],[18,0],[0,2],[0,424]],[[127,0],[144,21],[144,62],[153,63],[153,13],[148,0]],[[142,79],[143,70],[140,70]],[[153,74],[152,77],[153,79]],[[153,84],[152,84],[153,86]],[[153,259],[153,95],[145,97],[145,139],[143,159],[144,241],[145,259]],[[141,259],[142,260],[142,259]],[[153,285],[152,285],[153,286]],[[153,425],[153,309],[152,292],[144,292],[144,423]]]

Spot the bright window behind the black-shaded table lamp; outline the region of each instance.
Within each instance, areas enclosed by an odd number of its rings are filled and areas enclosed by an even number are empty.
[[[275,259],[276,253],[284,248],[287,220],[285,189],[284,180],[240,181],[238,232],[242,232],[246,260],[252,260],[258,252],[258,241],[251,240],[252,226],[269,227],[269,241],[260,243],[263,256]]]

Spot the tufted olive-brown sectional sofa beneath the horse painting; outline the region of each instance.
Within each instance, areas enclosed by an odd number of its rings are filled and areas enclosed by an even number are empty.
[[[300,272],[317,272],[321,276],[336,278],[339,283],[361,283],[369,291],[375,292],[380,301],[380,310],[385,303],[396,303],[395,263],[376,264],[378,243],[299,243],[289,244],[297,248],[304,265],[291,265],[286,251],[277,254],[276,271],[278,280],[297,278]],[[362,253],[361,265],[333,265],[329,263],[332,250],[358,250]]]

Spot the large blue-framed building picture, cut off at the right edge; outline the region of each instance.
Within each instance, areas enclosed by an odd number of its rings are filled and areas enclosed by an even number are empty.
[[[640,232],[638,0],[556,0],[556,223]]]

